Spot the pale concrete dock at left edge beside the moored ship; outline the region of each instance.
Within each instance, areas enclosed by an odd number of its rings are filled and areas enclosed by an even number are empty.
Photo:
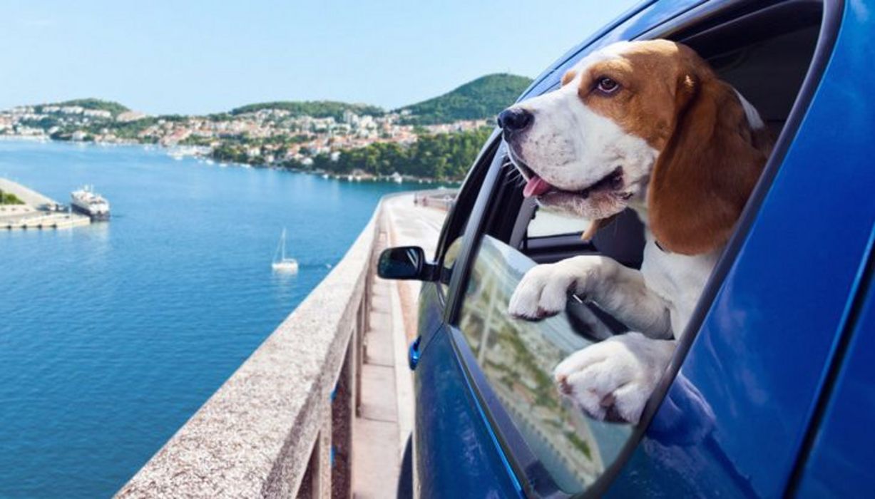
[[[15,194],[23,205],[0,205],[0,229],[73,228],[91,223],[88,215],[61,210],[59,202],[18,182],[0,178],[0,191]]]

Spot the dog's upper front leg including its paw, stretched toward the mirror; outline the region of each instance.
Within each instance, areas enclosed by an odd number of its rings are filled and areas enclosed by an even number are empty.
[[[516,286],[507,311],[528,320],[555,315],[565,310],[568,292],[591,299],[650,338],[672,337],[669,307],[648,289],[641,272],[598,255],[532,267]]]

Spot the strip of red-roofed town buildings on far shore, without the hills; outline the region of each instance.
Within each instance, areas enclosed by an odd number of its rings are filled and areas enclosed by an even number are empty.
[[[265,108],[211,116],[147,116],[131,110],[114,115],[107,109],[81,105],[19,106],[0,111],[0,135],[96,144],[158,144],[175,155],[206,157],[237,150],[242,157],[228,159],[255,165],[307,166],[319,154],[336,160],[340,151],[370,144],[407,146],[422,134],[487,126],[486,119],[405,124],[409,115],[409,111],[401,111],[374,116],[345,109],[337,119]]]

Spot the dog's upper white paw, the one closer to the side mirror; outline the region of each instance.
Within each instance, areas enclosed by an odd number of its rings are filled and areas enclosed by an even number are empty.
[[[600,261],[600,257],[575,257],[556,264],[535,265],[516,286],[507,313],[538,320],[563,312],[569,291],[579,292],[598,280]]]

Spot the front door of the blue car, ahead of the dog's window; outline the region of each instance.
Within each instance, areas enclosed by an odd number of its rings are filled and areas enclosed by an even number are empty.
[[[413,488],[423,497],[507,497],[519,487],[496,452],[493,433],[482,418],[469,382],[452,348],[445,319],[455,301],[458,262],[486,207],[501,165],[495,164],[497,135],[480,153],[447,217],[437,245],[439,277],[423,283],[419,332],[411,347],[416,391],[413,435]]]

